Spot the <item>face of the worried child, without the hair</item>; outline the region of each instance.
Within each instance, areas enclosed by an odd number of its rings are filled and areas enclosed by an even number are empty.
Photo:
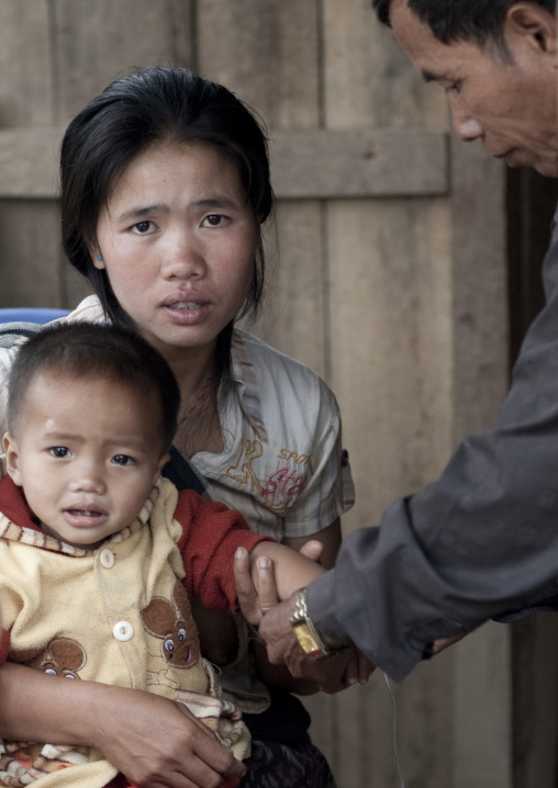
[[[96,548],[134,520],[168,459],[153,409],[111,381],[33,379],[3,446],[8,472],[46,533]]]

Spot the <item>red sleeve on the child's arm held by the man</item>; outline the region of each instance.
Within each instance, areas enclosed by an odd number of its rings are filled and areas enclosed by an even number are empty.
[[[175,518],[182,526],[178,549],[188,594],[200,597],[208,608],[238,610],[233,574],[236,548],[249,552],[258,542],[274,540],[253,533],[238,511],[204,500],[193,489],[180,492]]]

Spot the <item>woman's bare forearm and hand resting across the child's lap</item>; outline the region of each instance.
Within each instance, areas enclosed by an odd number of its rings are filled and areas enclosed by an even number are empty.
[[[246,769],[182,705],[5,663],[0,736],[98,747],[138,788],[214,788]]]

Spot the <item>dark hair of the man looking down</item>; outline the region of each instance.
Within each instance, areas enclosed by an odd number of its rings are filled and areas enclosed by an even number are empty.
[[[531,0],[537,5],[556,10],[556,0]],[[432,30],[438,41],[470,41],[479,46],[503,43],[504,22],[509,9],[517,0],[408,0],[409,8]],[[378,19],[390,24],[392,0],[372,0]]]

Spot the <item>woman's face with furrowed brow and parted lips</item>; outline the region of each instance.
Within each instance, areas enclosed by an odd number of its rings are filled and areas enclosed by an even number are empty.
[[[124,170],[90,252],[140,334],[172,361],[214,349],[249,291],[257,244],[235,165],[203,143],[166,144]]]

